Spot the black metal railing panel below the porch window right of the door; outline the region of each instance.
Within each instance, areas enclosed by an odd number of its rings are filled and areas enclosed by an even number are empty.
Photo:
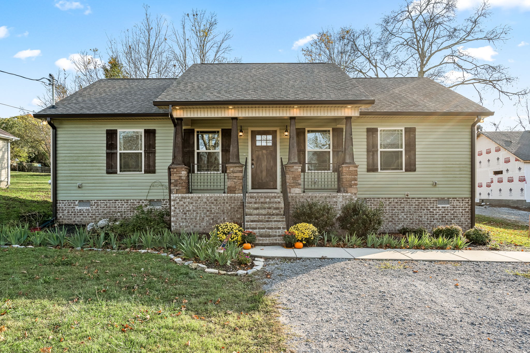
[[[338,163],[306,163],[302,166],[302,192],[339,192]]]

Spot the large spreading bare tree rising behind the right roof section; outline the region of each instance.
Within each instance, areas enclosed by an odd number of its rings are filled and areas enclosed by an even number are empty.
[[[407,0],[399,10],[383,17],[378,32],[344,27],[323,36],[323,31],[302,52],[307,61],[318,57],[335,62],[354,77],[414,75],[432,78],[449,88],[472,86],[481,103],[486,92],[497,94],[497,99],[527,95],[528,89],[510,89],[517,78],[508,68],[484,64],[465,49],[472,43],[504,43],[510,28],[486,28],[491,16],[486,2],[459,20],[457,2]],[[325,52],[333,55],[326,57]]]

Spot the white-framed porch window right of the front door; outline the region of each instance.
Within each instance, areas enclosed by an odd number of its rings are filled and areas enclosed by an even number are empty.
[[[307,130],[307,171],[331,170],[331,130]]]

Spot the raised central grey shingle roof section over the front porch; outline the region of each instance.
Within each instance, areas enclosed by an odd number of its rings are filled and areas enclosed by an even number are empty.
[[[267,101],[371,104],[373,98],[334,64],[194,64],[156,98],[154,104],[259,104]]]

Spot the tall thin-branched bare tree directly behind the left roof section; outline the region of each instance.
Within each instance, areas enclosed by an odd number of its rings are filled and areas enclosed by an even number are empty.
[[[167,43],[169,28],[162,15],[152,16],[144,5],[144,19],[122,31],[119,38],[108,37],[109,55],[117,59],[131,78],[173,77],[175,66]]]

